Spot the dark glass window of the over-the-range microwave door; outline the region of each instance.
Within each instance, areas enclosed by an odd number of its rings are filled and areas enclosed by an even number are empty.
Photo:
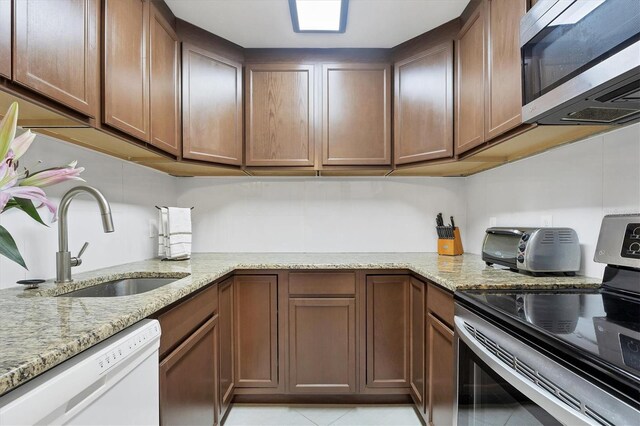
[[[524,103],[640,39],[638,0],[578,0],[522,48]]]

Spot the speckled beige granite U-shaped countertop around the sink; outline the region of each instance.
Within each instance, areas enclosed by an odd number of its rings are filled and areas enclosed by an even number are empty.
[[[52,281],[37,290],[0,290],[0,395],[137,321],[238,269],[408,269],[451,291],[597,287],[601,279],[532,277],[487,267],[480,256],[436,253],[198,253],[189,261],[134,262]],[[52,297],[131,277],[175,277],[147,293],[114,298]]]

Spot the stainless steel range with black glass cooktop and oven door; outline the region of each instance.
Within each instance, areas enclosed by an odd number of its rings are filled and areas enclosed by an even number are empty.
[[[640,424],[640,215],[595,260],[599,289],[456,293],[458,425]]]

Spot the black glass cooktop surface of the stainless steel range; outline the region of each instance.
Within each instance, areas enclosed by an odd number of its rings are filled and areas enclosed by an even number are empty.
[[[640,388],[640,298],[608,290],[465,291],[456,298],[507,319],[564,354],[588,358]],[[514,331],[515,330],[515,331]]]

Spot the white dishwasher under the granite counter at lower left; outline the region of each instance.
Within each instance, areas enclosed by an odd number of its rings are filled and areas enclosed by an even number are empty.
[[[159,346],[140,321],[0,397],[0,425],[157,425]]]

